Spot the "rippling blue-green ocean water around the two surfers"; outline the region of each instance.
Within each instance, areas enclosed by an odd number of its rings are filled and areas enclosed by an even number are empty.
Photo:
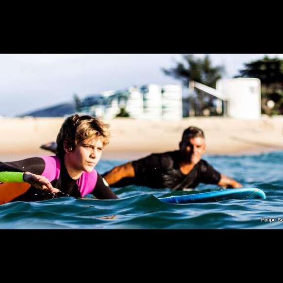
[[[203,159],[244,187],[262,189],[266,199],[169,204],[158,197],[170,189],[128,186],[114,189],[115,201],[90,196],[1,205],[0,229],[283,229],[283,152]],[[126,161],[101,161],[96,169],[102,174]],[[200,184],[196,190],[218,189]]]

